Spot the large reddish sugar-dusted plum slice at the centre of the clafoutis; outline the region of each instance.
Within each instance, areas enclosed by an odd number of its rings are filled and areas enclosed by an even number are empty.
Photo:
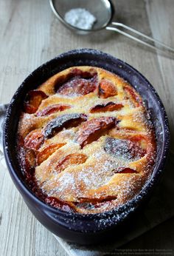
[[[94,118],[86,121],[77,132],[77,143],[83,147],[92,141],[97,141],[104,132],[114,127],[115,121],[116,118],[113,117]]]

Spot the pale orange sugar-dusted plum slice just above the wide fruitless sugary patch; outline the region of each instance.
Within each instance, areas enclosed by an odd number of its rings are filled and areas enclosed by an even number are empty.
[[[63,172],[64,169],[66,169],[72,164],[85,163],[86,159],[87,159],[87,156],[84,154],[74,153],[74,154],[66,155],[66,157],[58,161],[58,165],[56,166],[55,169],[57,172]]]

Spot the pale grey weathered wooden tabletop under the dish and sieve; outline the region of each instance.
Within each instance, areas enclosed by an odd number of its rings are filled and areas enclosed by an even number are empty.
[[[174,47],[173,0],[117,0],[114,6],[114,20]],[[105,30],[88,36],[74,35],[55,18],[46,0],[0,0],[0,25],[0,103],[8,103],[21,81],[55,55],[82,47],[102,50],[133,65],[159,92],[170,120],[174,149],[173,58]],[[174,218],[122,248],[174,249],[173,230]],[[66,255],[53,235],[29,212],[2,166],[0,255]]]

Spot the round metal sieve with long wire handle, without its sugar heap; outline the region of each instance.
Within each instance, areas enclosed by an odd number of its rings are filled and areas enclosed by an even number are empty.
[[[50,6],[52,7],[53,13],[55,13],[55,16],[66,27],[68,27],[70,30],[73,30],[75,33],[78,33],[80,35],[85,35],[85,34],[95,32],[97,30],[102,30],[102,29],[112,30],[124,36],[128,36],[128,38],[138,41],[141,44],[145,44],[146,46],[151,47],[153,49],[169,50],[170,52],[174,53],[174,48],[161,43],[161,41],[153,39],[150,36],[147,36],[139,32],[138,30],[134,30],[132,27],[126,26],[125,24],[111,21],[114,14],[114,7],[112,6],[111,1],[108,1],[108,0],[88,0],[88,1],[87,0],[73,0],[73,1],[49,0],[49,3],[50,3]],[[74,8],[84,8],[97,18],[97,21],[95,22],[91,30],[84,30],[79,27],[74,27],[72,26],[72,24],[69,24],[66,22],[66,20],[64,19],[66,12]],[[128,31],[128,33],[125,32],[126,30]],[[133,33],[134,36],[131,35],[130,33]],[[140,36],[142,39],[137,36]]]

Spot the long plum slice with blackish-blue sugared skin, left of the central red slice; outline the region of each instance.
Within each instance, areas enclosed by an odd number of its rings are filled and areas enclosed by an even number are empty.
[[[59,132],[63,128],[77,127],[81,122],[86,121],[87,117],[84,114],[66,114],[60,115],[57,118],[52,119],[46,124],[43,129],[43,135],[45,138],[50,138]]]

